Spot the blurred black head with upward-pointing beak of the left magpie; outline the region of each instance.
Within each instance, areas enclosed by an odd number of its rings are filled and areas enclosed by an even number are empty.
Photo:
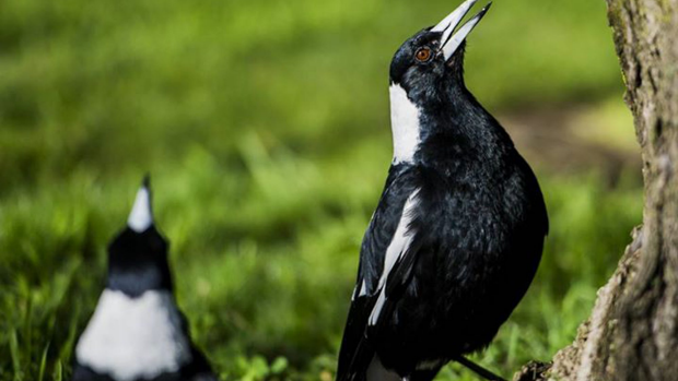
[[[149,178],[137,193],[127,227],[108,246],[108,289],[137,297],[150,289],[172,290],[167,241],[153,223]]]

